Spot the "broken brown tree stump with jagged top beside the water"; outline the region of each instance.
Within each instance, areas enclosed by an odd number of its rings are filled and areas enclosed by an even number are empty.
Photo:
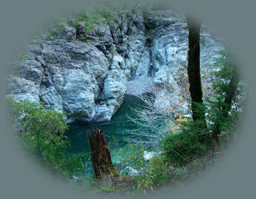
[[[93,169],[95,171],[95,177],[104,177],[106,174],[113,173],[114,165],[111,161],[110,152],[108,151],[108,144],[105,138],[105,134],[101,129],[87,131],[87,138],[89,141],[89,147]]]

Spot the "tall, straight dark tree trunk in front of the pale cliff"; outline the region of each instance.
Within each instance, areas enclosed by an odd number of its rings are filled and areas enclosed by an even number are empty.
[[[193,120],[200,120],[206,126],[205,111],[202,104],[202,86],[200,76],[200,28],[201,23],[192,17],[186,16],[189,28],[189,63],[187,72],[189,75],[189,92],[192,99]]]

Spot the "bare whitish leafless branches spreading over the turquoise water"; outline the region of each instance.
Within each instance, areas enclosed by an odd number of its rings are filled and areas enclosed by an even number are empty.
[[[163,84],[153,86],[148,95],[139,96],[146,105],[131,108],[134,116],[126,116],[130,122],[139,126],[137,129],[127,130],[131,134],[128,140],[143,143],[147,147],[157,147],[160,140],[181,127],[176,118],[189,113],[189,110],[183,104],[183,98],[173,99],[172,92],[172,86]]]

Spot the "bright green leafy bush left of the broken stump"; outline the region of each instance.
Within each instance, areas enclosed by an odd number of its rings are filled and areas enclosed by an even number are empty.
[[[46,167],[63,177],[84,172],[85,155],[66,154],[70,143],[64,135],[68,128],[64,113],[46,110],[42,102],[16,102],[7,98],[6,104],[8,121],[28,152],[39,156]]]

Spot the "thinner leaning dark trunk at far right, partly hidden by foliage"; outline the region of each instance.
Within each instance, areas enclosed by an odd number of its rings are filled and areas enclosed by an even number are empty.
[[[237,86],[239,84],[239,74],[237,73],[237,68],[236,66],[234,66],[233,69],[233,74],[231,77],[231,80],[229,82],[229,86],[228,86],[228,91],[226,91],[226,97],[224,99],[223,102],[223,106],[222,109],[220,110],[220,117],[222,117],[223,119],[226,119],[228,117],[228,113],[231,110],[231,106],[232,106],[232,101],[235,98],[236,95],[236,91],[237,91]],[[219,143],[219,136],[220,135],[220,122],[216,124],[215,126],[215,134],[214,134],[214,138],[217,141],[217,143]]]

